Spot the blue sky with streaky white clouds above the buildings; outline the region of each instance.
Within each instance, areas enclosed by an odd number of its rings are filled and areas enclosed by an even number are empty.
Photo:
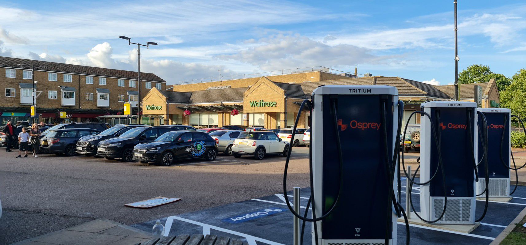
[[[452,1],[2,1],[0,55],[141,71],[169,84],[324,66],[454,80]],[[459,68],[526,68],[526,3],[459,3]]]

